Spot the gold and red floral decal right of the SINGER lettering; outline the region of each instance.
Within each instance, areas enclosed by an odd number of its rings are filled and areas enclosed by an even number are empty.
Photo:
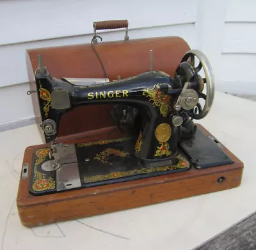
[[[171,98],[168,94],[163,94],[162,91],[157,90],[157,86],[159,86],[159,84],[154,85],[152,89],[144,89],[143,96],[149,97],[149,101],[153,101],[153,106],[159,107],[160,113],[166,117],[170,111]]]

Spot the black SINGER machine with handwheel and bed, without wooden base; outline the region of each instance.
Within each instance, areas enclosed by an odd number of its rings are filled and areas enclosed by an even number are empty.
[[[200,52],[195,52],[201,59],[199,66],[188,62],[194,55],[189,52],[175,78],[151,70],[88,86],[51,77],[40,62],[35,81],[42,129],[51,146],[34,153],[30,192],[45,195],[181,172],[192,166],[209,168],[232,163],[220,144],[196,129],[190,119],[204,118],[214,96],[211,66]],[[206,70],[204,79],[198,75],[202,67]],[[207,95],[202,93],[204,84]],[[199,98],[205,99],[204,109]],[[127,137],[68,145],[54,142],[61,115],[95,103],[115,103],[113,119],[118,128],[125,129]],[[95,115],[100,115],[100,110]]]

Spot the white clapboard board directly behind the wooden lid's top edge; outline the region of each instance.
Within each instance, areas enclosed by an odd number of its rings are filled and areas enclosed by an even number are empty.
[[[103,41],[124,40],[124,31],[100,34]],[[193,24],[175,26],[151,27],[134,29],[129,31],[130,39],[147,38],[154,36],[182,36],[191,47],[195,47],[195,32]],[[90,43],[92,34],[86,36],[73,36],[44,41],[31,41],[0,47],[0,68],[3,74],[0,78],[0,86],[20,84],[28,82],[26,69],[26,49]],[[46,65],[47,66],[47,65]],[[15,71],[15,73],[13,73]]]

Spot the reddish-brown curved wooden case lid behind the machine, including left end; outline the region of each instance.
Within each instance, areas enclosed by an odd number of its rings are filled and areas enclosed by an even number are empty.
[[[129,41],[115,41],[95,45],[102,59],[109,80],[132,77],[150,70],[150,50],[153,50],[154,70],[174,76],[177,66],[189,46],[182,38],[170,36]],[[36,89],[34,73],[38,67],[37,55],[52,77],[103,78],[103,71],[90,44],[51,48],[36,48],[26,52],[26,64],[30,88]],[[40,124],[40,112],[36,94],[32,94],[36,122]],[[77,107],[61,117],[58,136],[74,135],[84,131],[113,126],[110,110],[113,105]],[[42,129],[40,129],[42,132]]]

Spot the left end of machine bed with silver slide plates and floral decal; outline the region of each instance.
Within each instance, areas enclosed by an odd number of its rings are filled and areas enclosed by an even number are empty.
[[[51,147],[36,151],[34,158],[34,192],[46,194],[81,187],[74,144],[52,143]]]

